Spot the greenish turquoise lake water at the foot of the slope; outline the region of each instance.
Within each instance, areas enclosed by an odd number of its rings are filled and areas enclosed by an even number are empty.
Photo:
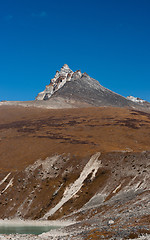
[[[48,232],[51,229],[56,229],[56,226],[0,226],[0,234],[35,234],[39,235],[43,232]]]

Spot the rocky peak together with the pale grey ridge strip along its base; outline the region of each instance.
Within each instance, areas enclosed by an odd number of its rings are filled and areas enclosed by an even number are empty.
[[[56,71],[54,78],[33,101],[2,101],[0,105],[47,109],[84,107],[129,107],[150,112],[150,103],[140,98],[127,98],[103,87],[99,81],[80,70],[73,72],[67,64]]]

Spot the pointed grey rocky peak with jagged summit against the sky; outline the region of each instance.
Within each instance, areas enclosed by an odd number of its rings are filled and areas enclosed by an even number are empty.
[[[91,78],[87,73],[80,70],[73,72],[67,64],[56,72],[50,84],[43,92],[40,92],[36,100],[61,101],[67,103],[78,103],[83,106],[116,106],[148,108],[144,100],[134,97],[123,97],[103,87],[97,80]],[[78,105],[77,105],[78,106]]]

